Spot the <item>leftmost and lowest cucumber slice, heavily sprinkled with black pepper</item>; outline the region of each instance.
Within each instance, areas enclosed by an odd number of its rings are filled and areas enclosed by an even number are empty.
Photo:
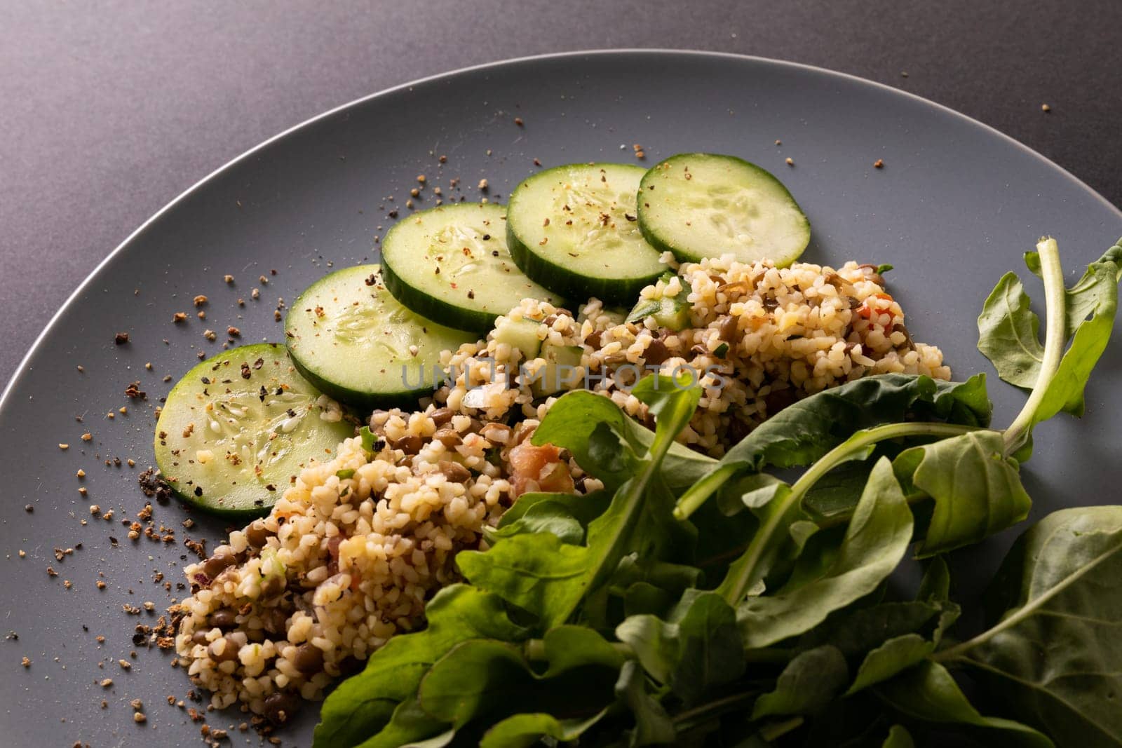
[[[185,501],[246,518],[268,511],[292,478],[334,454],[355,427],[301,377],[284,345],[223,351],[175,385],[156,424],[156,464]],[[325,421],[325,415],[333,421]]]

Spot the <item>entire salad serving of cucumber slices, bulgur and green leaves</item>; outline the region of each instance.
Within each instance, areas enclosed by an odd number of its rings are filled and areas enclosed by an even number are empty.
[[[1115,676],[1022,647],[1122,664],[1048,622],[1095,625],[1122,508],[1030,528],[1009,613],[966,640],[942,554],[1027,517],[1032,427],[1082,413],[1122,247],[1070,288],[1055,241],[1027,255],[1043,343],[1014,274],[985,301],[980,349],[1029,391],[997,430],[984,375],[912,339],[892,268],[795,261],[808,240],[778,179],[707,154],[401,221],[380,265],[292,304],[285,345],[169,395],[162,481],[249,520],[186,567],[176,663],[263,726],[327,696],[316,746],[1118,738],[1094,687],[1037,678]]]

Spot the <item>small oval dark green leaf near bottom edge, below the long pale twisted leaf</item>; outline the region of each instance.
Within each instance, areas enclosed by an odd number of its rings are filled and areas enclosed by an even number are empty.
[[[756,700],[752,719],[812,713],[842,693],[848,681],[849,668],[837,647],[827,644],[808,649],[788,663],[774,691]]]

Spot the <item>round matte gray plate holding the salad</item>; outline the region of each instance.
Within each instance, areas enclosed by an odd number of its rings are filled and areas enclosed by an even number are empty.
[[[323,114],[219,169],[132,234],[47,325],[0,400],[2,629],[19,637],[2,644],[0,742],[197,745],[199,726],[166,701],[184,696],[186,675],[169,666],[169,655],[135,646],[132,635],[184,594],[174,588],[187,553],[183,537],[213,543],[223,523],[195,516],[187,533],[182,507],[157,505],[157,525],[176,530],[176,543],[164,545],[128,541],[119,520],[145,504],[136,477],[153,460],[153,409],[171,388],[162,378],[221,347],[221,338],[204,341],[203,330],[234,325],[242,341],[280,340],[277,297],[294,298],[332,264],[373,259],[371,241],[384,233],[378,227],[393,223],[384,197],[394,195],[407,213],[419,174],[429,185],[421,206],[433,204],[438,185],[445,198],[476,200],[484,177],[497,200],[535,170],[535,158],[545,166],[634,161],[633,144],[643,145],[647,164],[708,150],[773,170],[813,227],[804,259],[895,265],[890,280],[911,313],[912,334],[939,344],[958,377],[990,371],[975,350],[975,317],[993,284],[1021,269],[1021,253],[1040,234],[1059,240],[1073,274],[1122,234],[1122,213],[994,130],[867,81],[764,59],[680,52],[537,57],[429,79]],[[443,166],[440,155],[448,156]],[[879,158],[883,169],[873,168]],[[452,177],[462,192],[451,188]],[[224,274],[234,285],[223,283]],[[250,301],[255,286],[259,301]],[[196,294],[210,297],[205,321],[194,316]],[[190,321],[173,325],[181,311]],[[114,345],[119,331],[131,343]],[[1086,417],[1039,430],[1038,456],[1026,471],[1034,514],[1116,493],[1120,364],[1115,340],[1087,391]],[[136,380],[147,403],[123,395]],[[995,421],[1008,423],[1022,396],[996,381],[992,390]],[[126,405],[128,415],[105,417]],[[85,432],[89,443],[81,441]],[[137,467],[105,467],[114,456]],[[112,507],[113,520],[92,518],[91,504]],[[1005,534],[960,555],[966,594],[976,593],[1010,541]],[[53,548],[80,543],[73,555],[54,558]],[[48,576],[47,566],[58,575]],[[95,588],[99,573],[103,591]],[[154,583],[157,573],[173,582],[172,592]],[[122,611],[145,601],[156,611]],[[22,656],[31,659],[27,669]],[[119,658],[131,659],[129,672]],[[111,687],[98,684],[105,677]],[[148,714],[142,726],[129,708],[138,698]],[[315,714],[304,712],[291,741],[310,742]],[[241,715],[208,721],[226,728]]]

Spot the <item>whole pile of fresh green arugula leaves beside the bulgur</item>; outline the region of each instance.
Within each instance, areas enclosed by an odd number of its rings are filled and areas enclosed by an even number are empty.
[[[1122,507],[1045,517],[999,571],[988,628],[955,630],[941,554],[1026,518],[1032,430],[1082,414],[1118,306],[1122,247],[1070,288],[1055,241],[1026,261],[1045,341],[1012,274],[978,318],[980,349],[1029,390],[1006,428],[984,375],[883,375],[790,405],[718,461],[675,441],[701,397],[687,379],[633,389],[654,431],[561,396],[533,443],[604,489],[522,496],[458,554],[466,581],[426,626],[328,696],[314,745],[1122,744]],[[909,556],[926,571],[905,593]]]

